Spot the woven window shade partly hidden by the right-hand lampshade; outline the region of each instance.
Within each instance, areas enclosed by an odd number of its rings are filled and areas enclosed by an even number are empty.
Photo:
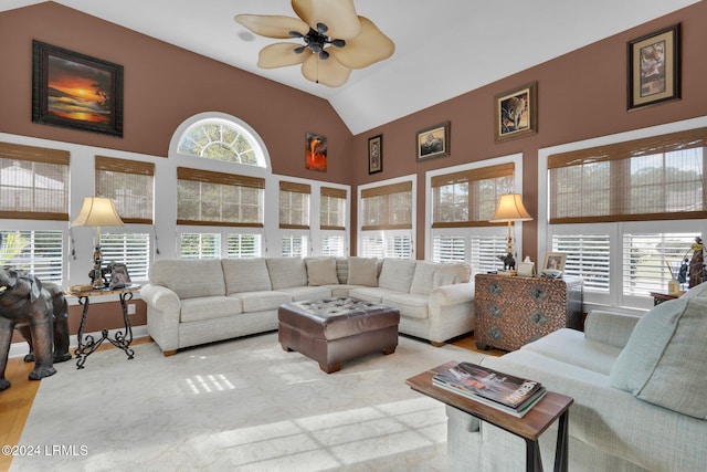
[[[489,227],[498,198],[513,189],[507,162],[432,178],[432,228]]]

